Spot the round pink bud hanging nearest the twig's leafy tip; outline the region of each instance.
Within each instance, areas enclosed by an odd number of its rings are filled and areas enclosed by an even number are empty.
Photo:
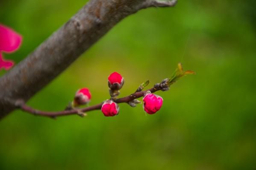
[[[143,97],[143,108],[148,114],[154,114],[161,108],[163,104],[163,98],[156,94],[146,94]]]

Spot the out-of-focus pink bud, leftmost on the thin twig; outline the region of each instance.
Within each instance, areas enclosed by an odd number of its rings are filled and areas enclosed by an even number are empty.
[[[77,91],[74,98],[74,105],[85,105],[90,102],[91,93],[88,88],[81,88]]]

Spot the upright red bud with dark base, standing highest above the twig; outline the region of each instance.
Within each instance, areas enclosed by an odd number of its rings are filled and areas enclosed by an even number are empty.
[[[121,76],[121,74],[118,74],[117,72],[114,72],[109,75],[109,88],[112,90],[119,90],[124,85],[124,78]]]

